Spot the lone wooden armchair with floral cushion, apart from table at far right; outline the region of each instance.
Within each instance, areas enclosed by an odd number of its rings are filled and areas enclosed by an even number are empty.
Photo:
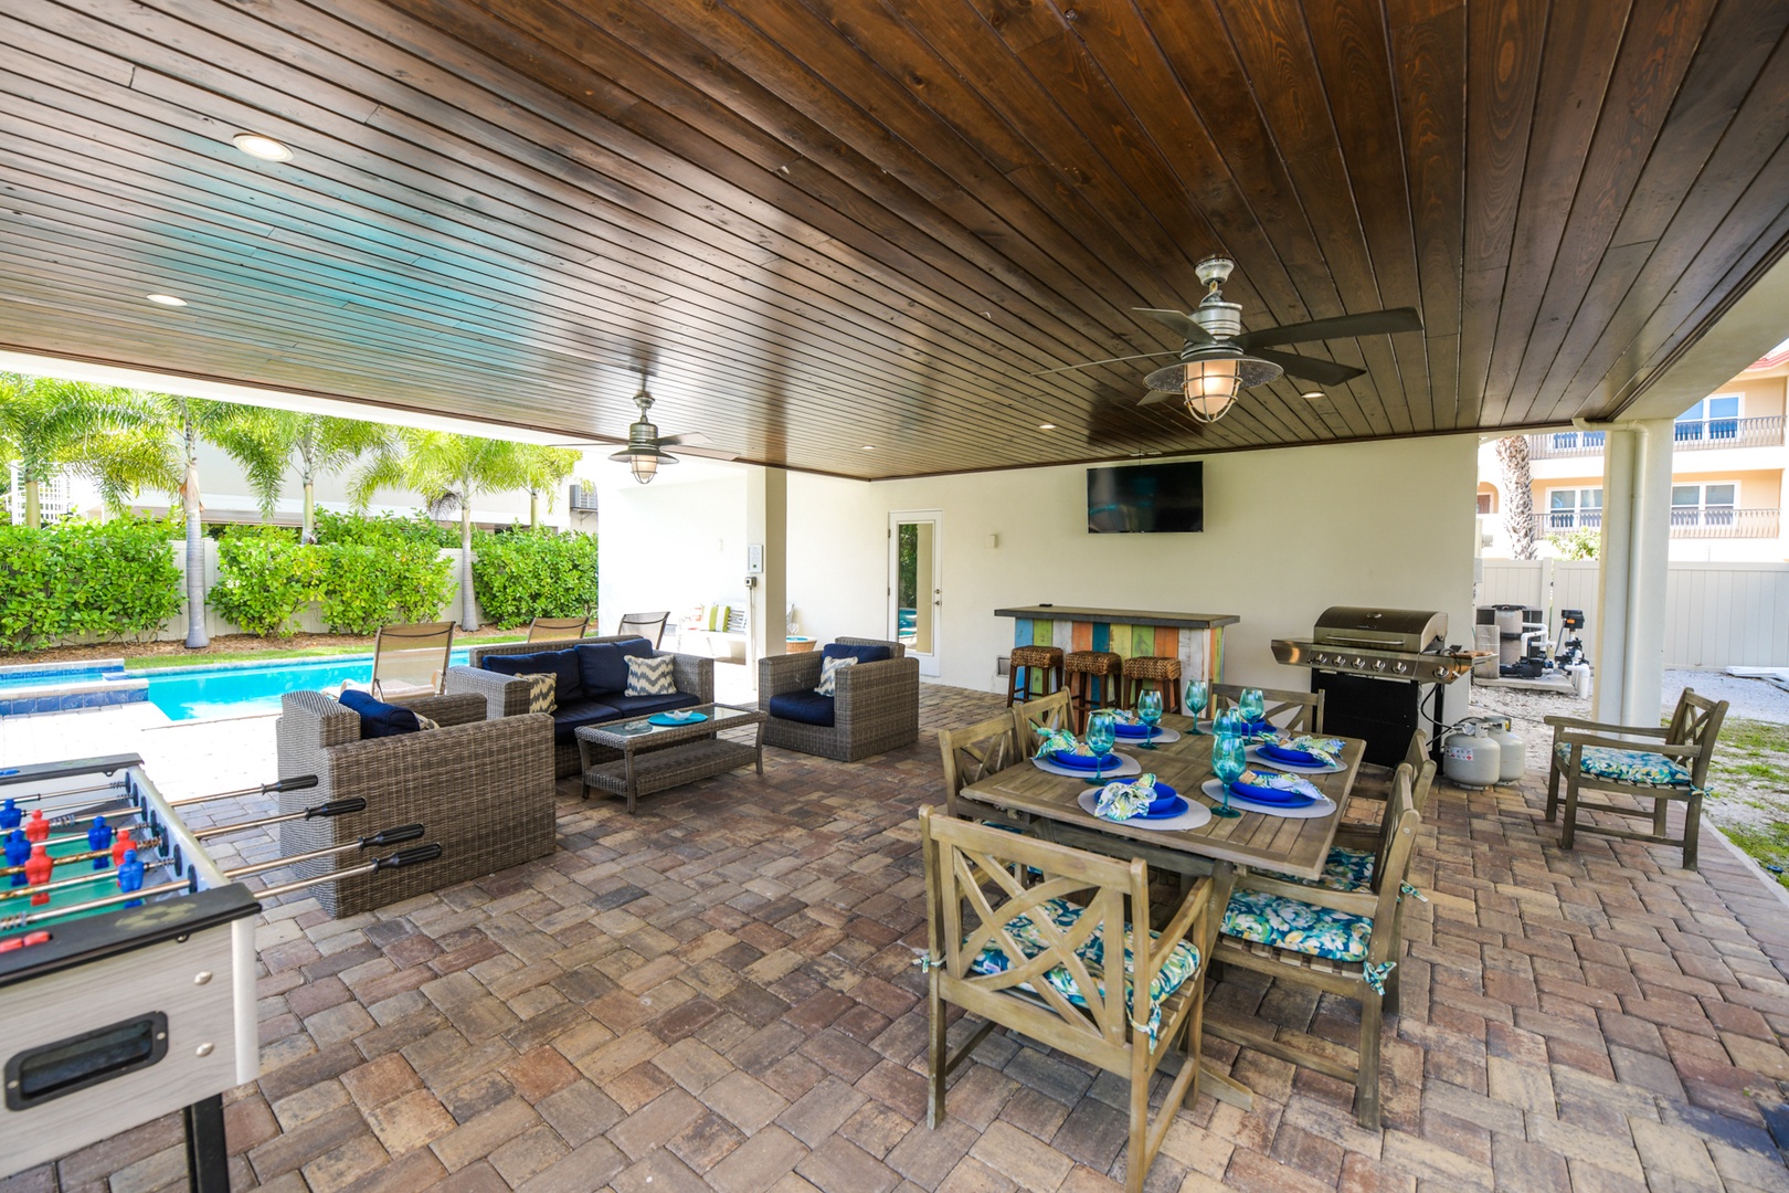
[[[1664,726],[1607,724],[1578,717],[1546,717],[1553,726],[1553,755],[1547,764],[1547,821],[1560,805],[1560,776],[1565,778],[1565,821],[1560,846],[1573,848],[1576,833],[1603,833],[1624,841],[1675,844],[1683,850],[1683,869],[1696,869],[1696,844],[1701,835],[1701,798],[1708,787],[1708,760],[1714,740],[1726,719],[1726,701],[1712,701],[1683,689],[1671,721]],[[1637,742],[1632,739],[1662,739]],[[1607,800],[1580,800],[1580,791],[1623,794],[1651,800],[1649,808],[1624,808]],[[1671,805],[1682,801],[1683,835],[1673,837],[1666,826]],[[1580,812],[1651,819],[1651,832],[1608,828],[1580,819]]]

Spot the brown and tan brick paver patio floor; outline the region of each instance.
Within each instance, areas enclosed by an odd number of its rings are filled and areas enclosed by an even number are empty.
[[[265,1073],[225,1111],[234,1188],[1113,1188],[1122,1082],[1023,1039],[989,1037],[950,1121],[923,1123],[914,808],[939,796],[930,730],[998,708],[927,687],[907,749],[773,749],[764,780],[635,817],[562,787],[551,859],[354,919],[272,909]],[[1564,853],[1540,801],[1533,776],[1437,785],[1383,1132],[1340,1082],[1208,1039],[1258,1107],[1188,1105],[1150,1188],[1789,1189],[1785,905],[1712,841],[1700,875],[1605,837]],[[1335,1041],[1356,1023],[1240,977],[1211,1009]],[[182,1182],[166,1118],[0,1189]]]

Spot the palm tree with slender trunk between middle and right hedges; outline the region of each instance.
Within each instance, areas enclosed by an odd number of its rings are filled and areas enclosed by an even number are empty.
[[[460,510],[460,628],[478,630],[472,596],[472,497],[522,488],[528,476],[522,444],[403,427],[403,453],[386,447],[370,453],[351,485],[354,503],[365,506],[381,488],[413,488],[431,513]]]

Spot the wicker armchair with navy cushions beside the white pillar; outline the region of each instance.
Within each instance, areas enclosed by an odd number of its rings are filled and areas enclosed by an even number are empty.
[[[834,644],[886,646],[891,658],[839,671],[832,724],[809,724],[771,712],[776,696],[810,692],[819,683],[821,651],[759,660],[759,708],[769,715],[764,723],[764,744],[855,762],[916,740],[920,660],[909,658],[900,642],[884,639],[834,639]]]

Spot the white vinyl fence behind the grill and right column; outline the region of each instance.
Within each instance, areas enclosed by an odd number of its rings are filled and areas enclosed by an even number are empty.
[[[1485,560],[1480,605],[1562,608],[1589,621],[1598,655],[1596,562]],[[1666,580],[1666,667],[1789,667],[1789,563],[1673,563]]]

